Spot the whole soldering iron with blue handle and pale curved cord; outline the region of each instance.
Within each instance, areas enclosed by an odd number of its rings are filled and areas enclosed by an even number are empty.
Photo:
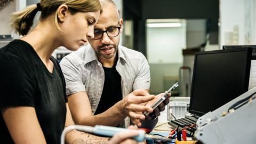
[[[61,133],[61,144],[65,143],[65,135],[70,130],[84,131],[87,133],[99,134],[99,135],[103,135],[103,136],[107,136],[107,137],[113,137],[116,133],[119,133],[119,132],[134,131],[134,130],[130,130],[130,129],[111,127],[111,126],[103,126],[103,125],[96,125],[94,127],[84,126],[84,125],[70,125],[68,127],[65,127],[65,129]],[[142,131],[142,130],[137,130],[137,131],[139,131],[139,135],[137,137],[133,137],[133,139],[138,142],[142,142],[144,140],[161,140],[161,141],[166,141],[166,142],[172,141],[171,138],[160,137],[158,135],[145,134],[145,131]]]

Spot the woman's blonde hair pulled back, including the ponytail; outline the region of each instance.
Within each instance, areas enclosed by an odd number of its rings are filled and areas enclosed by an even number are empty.
[[[41,20],[46,19],[54,14],[55,26],[61,31],[57,9],[61,4],[66,4],[71,14],[76,12],[95,12],[102,11],[99,0],[41,0],[38,7],[37,4],[29,5],[25,9],[11,14],[11,26],[20,35],[27,35],[33,20],[38,11],[41,12]]]

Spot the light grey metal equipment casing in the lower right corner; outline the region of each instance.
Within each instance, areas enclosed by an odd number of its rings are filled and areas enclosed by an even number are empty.
[[[256,87],[199,117],[196,138],[205,144],[255,143],[255,94]]]

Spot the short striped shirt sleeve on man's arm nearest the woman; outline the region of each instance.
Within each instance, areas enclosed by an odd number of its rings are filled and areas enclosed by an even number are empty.
[[[67,95],[85,91],[82,77],[82,65],[72,57],[72,55],[67,55],[60,62],[60,67],[66,81]]]

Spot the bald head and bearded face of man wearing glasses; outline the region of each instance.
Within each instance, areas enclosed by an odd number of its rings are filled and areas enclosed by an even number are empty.
[[[101,38],[89,39],[89,43],[102,61],[104,61],[103,59],[114,60],[113,58],[117,52],[120,35],[123,31],[123,19],[119,18],[117,7],[113,1],[99,1],[102,7],[102,13],[98,22],[94,25],[94,31],[100,31],[101,35],[97,35],[97,33],[94,33],[94,35],[101,36]],[[107,50],[106,46],[110,47],[111,51],[109,48]],[[106,50],[103,50],[105,49],[104,47]]]

